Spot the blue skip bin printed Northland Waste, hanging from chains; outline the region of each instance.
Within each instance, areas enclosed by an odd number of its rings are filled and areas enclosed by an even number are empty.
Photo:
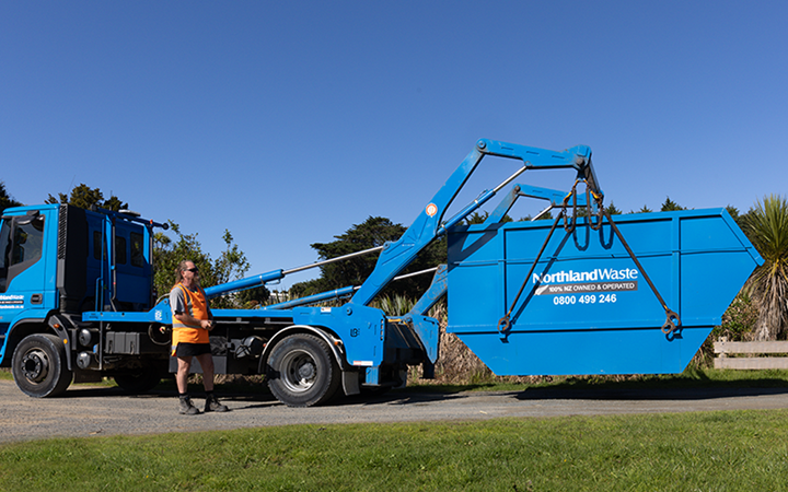
[[[677,329],[610,222],[579,219],[535,266],[553,221],[453,227],[447,331],[501,376],[682,372],[763,259],[725,209],[614,221]]]

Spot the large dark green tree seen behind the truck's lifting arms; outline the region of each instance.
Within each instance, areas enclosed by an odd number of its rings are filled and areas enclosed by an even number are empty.
[[[406,229],[402,224],[395,224],[389,219],[370,216],[361,224],[354,224],[345,234],[334,236],[337,241],[314,243],[311,246],[317,251],[320,259],[325,260],[383,246],[386,242],[397,241],[405,231]],[[297,283],[292,286],[291,294],[304,296],[349,285],[360,285],[374,270],[378,256],[369,254],[325,265],[321,267],[320,278]],[[445,260],[445,241],[436,241],[425,248],[403,273],[437,267]],[[392,282],[381,295],[405,295],[418,298],[429,288],[431,280],[431,276],[424,274]]]

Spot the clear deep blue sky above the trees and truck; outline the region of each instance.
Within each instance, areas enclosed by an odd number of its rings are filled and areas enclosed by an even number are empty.
[[[788,188],[786,20],[783,1],[3,1],[0,179],[30,204],[101,188],[213,257],[230,230],[250,273],[370,215],[409,225],[479,138],[590,145],[624,211],[745,212]],[[517,167],[484,161],[457,201]]]

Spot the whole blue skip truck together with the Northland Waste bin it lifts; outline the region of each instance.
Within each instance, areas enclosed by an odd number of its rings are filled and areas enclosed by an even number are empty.
[[[447,216],[486,156],[513,174]],[[571,169],[570,189],[515,183],[525,171]],[[465,218],[502,196],[483,224]],[[521,198],[542,200],[555,220],[507,222]],[[215,309],[218,374],[266,376],[288,406],[402,386],[408,366],[433,374],[440,324],[498,375],[681,372],[763,262],[725,209],[616,215],[588,147],[563,152],[476,142],[403,236],[340,258],[206,289],[209,298],[288,274],[378,254],[361,285],[255,309]],[[146,391],[175,371],[171,312],[153,288],[153,231],[130,212],[69,204],[7,209],[0,224],[0,365],[31,397],[61,395],[73,382],[113,377]],[[433,241],[447,265],[413,309],[387,316],[370,304]],[[344,304],[329,300],[340,298]],[[340,304],[336,306],[336,304]],[[196,364],[195,371],[200,371]]]

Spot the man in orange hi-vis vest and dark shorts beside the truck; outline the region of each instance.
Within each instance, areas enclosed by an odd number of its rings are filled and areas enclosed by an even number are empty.
[[[178,410],[185,415],[200,411],[192,403],[188,395],[188,375],[194,358],[202,367],[202,386],[206,391],[206,412],[225,412],[227,406],[213,395],[213,355],[208,333],[213,329],[213,315],[208,298],[199,284],[199,270],[195,263],[184,260],[175,270],[178,283],[170,291],[170,306],[173,313],[172,355],[178,366],[175,383],[178,389]]]

